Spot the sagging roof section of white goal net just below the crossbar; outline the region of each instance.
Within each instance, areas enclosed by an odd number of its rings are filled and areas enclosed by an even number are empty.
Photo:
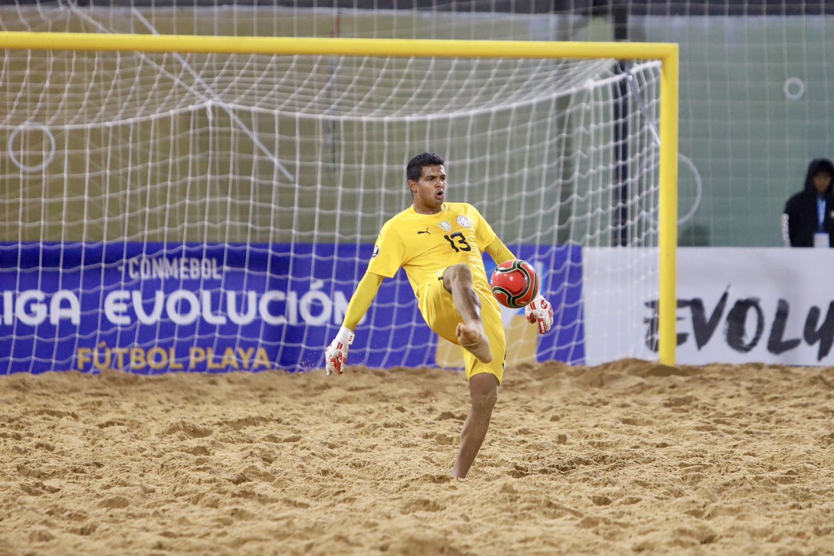
[[[214,103],[316,119],[453,117],[565,96],[610,60],[44,53],[10,56],[0,124],[117,125]],[[37,109],[17,98],[39,98]]]

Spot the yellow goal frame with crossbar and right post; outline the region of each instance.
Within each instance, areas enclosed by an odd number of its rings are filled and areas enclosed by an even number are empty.
[[[245,53],[435,58],[614,58],[661,61],[659,355],[675,364],[677,276],[678,63],[676,43],[562,43],[393,38],[204,37],[109,33],[0,33],[8,50]]]

